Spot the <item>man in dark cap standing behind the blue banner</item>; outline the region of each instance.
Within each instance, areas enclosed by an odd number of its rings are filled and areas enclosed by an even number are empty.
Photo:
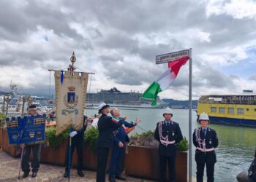
[[[29,106],[29,116],[37,116],[37,106],[32,104]],[[34,178],[37,176],[37,171],[39,170],[40,166],[40,156],[41,156],[41,144],[40,143],[26,143],[21,144],[20,147],[23,149],[23,157],[21,161],[21,169],[24,172],[23,178],[28,177],[30,172],[29,166],[29,157],[32,151],[33,159],[31,162],[32,168],[32,175],[31,177]]]

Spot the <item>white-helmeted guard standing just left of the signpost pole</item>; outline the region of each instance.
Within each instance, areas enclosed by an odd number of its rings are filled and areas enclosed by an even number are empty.
[[[169,181],[175,181],[176,143],[183,139],[178,123],[173,122],[172,111],[165,108],[164,121],[157,123],[154,138],[159,141],[159,181],[166,181],[166,162],[169,167]]]

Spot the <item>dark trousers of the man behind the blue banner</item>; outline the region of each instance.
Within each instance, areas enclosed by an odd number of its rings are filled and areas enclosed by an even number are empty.
[[[33,160],[31,163],[31,168],[33,173],[37,173],[40,166],[40,155],[41,155],[41,144],[33,144],[33,145],[26,145],[23,150],[23,158],[21,161],[21,169],[23,172],[29,172],[29,157],[30,153],[33,153]]]

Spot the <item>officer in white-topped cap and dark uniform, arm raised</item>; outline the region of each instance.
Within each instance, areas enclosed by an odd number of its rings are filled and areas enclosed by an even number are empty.
[[[108,162],[108,151],[113,146],[113,130],[120,127],[123,121],[117,123],[112,121],[108,116],[110,113],[110,106],[106,103],[99,105],[98,129],[99,137],[97,139],[97,182],[105,182],[105,173]]]

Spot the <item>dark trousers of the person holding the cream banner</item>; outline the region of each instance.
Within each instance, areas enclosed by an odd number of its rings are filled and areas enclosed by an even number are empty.
[[[83,140],[78,140],[78,139],[73,139],[72,138],[72,143],[71,143],[71,159],[70,159],[70,167],[72,164],[72,156],[73,156],[73,152],[75,150],[75,148],[77,149],[77,154],[78,154],[78,166],[77,169],[78,170],[82,170],[83,169]],[[66,172],[68,170],[68,164],[69,164],[69,140],[68,140],[68,145],[67,145],[67,153],[66,153]]]

